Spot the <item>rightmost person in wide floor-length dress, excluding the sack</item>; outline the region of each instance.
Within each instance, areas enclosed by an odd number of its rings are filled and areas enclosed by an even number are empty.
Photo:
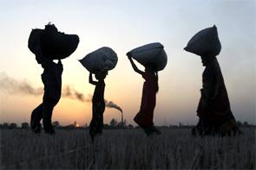
[[[240,132],[230,108],[226,86],[220,65],[215,56],[201,56],[203,66],[202,89],[197,108],[199,123],[193,129],[193,134],[200,135],[233,135]]]

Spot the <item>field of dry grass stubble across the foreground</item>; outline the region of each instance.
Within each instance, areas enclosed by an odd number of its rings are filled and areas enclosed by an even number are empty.
[[[255,169],[255,129],[237,137],[193,137],[190,129],[108,129],[90,142],[87,130],[1,130],[0,168],[58,169]]]

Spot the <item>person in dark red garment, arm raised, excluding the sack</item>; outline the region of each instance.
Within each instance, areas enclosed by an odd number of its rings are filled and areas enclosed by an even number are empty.
[[[145,79],[142,90],[141,108],[135,116],[134,121],[144,129],[146,135],[152,135],[154,133],[160,135],[161,132],[154,127],[153,123],[156,93],[159,90],[158,74],[154,69],[154,64],[148,64],[145,66],[145,72],[142,72],[135,65],[131,54],[128,53],[127,55],[135,72],[141,74],[142,78]]]

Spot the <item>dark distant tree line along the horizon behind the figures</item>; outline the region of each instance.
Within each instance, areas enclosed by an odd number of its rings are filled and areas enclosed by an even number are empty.
[[[56,129],[88,129],[89,126],[85,124],[84,126],[79,126],[76,122],[73,124],[69,124],[66,126],[62,126],[58,121],[53,122],[53,125]],[[256,128],[256,125],[249,124],[246,121],[240,122],[237,121],[237,125],[243,128]],[[179,125],[163,125],[158,126],[160,129],[179,129],[179,128],[193,128],[194,125],[184,125],[183,123],[179,123]],[[30,129],[30,123],[21,123],[21,127],[18,127],[16,123],[3,123],[0,124],[0,129]],[[128,124],[126,120],[123,122],[118,122],[115,118],[111,119],[109,124],[104,124],[104,129],[139,129],[138,126],[133,126],[132,124]]]

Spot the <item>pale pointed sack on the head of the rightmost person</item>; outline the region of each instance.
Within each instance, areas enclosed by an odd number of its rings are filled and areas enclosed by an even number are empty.
[[[216,26],[205,28],[195,34],[190,41],[187,42],[187,47],[184,49],[187,52],[200,56],[205,54],[220,54],[221,44]]]

